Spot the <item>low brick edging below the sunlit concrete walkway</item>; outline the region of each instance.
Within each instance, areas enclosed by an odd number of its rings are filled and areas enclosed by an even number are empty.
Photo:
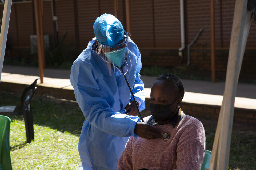
[[[0,89],[3,91],[21,93],[26,87],[26,84],[17,84],[10,82],[1,82]],[[54,88],[46,86],[37,86],[35,95],[45,96],[50,95],[59,99],[75,100],[73,89]],[[150,98],[146,98],[146,109],[141,112],[142,117],[150,115]],[[220,112],[220,106],[217,105],[206,105],[182,102],[181,109],[187,115],[194,117],[204,118],[218,118]],[[234,121],[255,124],[256,123],[256,110],[234,108]]]

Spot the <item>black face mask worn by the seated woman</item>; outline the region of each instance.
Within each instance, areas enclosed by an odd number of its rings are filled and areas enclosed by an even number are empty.
[[[176,99],[175,101],[177,101],[178,99]],[[175,113],[176,108],[173,112],[170,111],[170,107],[171,107],[171,105],[173,105],[173,103],[172,104],[152,104],[152,103],[150,103],[151,115],[157,122],[158,121],[160,121],[160,122],[167,121],[168,119],[172,118],[176,114]]]

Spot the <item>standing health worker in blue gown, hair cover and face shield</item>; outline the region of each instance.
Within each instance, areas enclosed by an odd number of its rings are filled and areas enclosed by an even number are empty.
[[[70,75],[85,116],[78,143],[80,169],[114,170],[129,136],[154,139],[162,138],[162,132],[137,117],[136,104],[139,111],[145,109],[137,45],[113,15],[101,15],[93,28],[95,38],[74,61]]]

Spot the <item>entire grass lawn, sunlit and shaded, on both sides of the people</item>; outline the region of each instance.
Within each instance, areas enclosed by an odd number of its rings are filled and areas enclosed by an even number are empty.
[[[0,91],[0,106],[16,105],[19,95]],[[35,140],[26,143],[22,116],[12,116],[10,148],[13,169],[78,169],[78,139],[84,116],[73,101],[34,96],[31,102]],[[143,111],[146,116],[149,111]],[[207,150],[212,149],[216,119],[198,118],[205,127]],[[229,166],[232,170],[256,169],[255,125],[234,122]]]

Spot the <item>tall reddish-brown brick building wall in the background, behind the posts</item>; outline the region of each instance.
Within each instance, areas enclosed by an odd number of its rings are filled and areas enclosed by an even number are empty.
[[[118,0],[118,18],[126,25],[124,0]],[[210,60],[210,1],[186,0],[187,2],[187,42],[191,43],[199,29],[204,27],[198,40],[191,46],[191,65],[199,63],[199,70],[211,69]],[[228,48],[234,13],[234,0],[215,2],[215,42],[216,71],[226,71]],[[220,3],[222,2],[222,3]],[[77,13],[74,13],[74,1],[56,1],[59,39],[67,32],[64,43],[75,47],[75,18],[78,20],[79,47],[85,49],[88,41],[94,37],[93,23],[103,14],[114,14],[113,0],[84,1],[77,0]],[[222,15],[221,9],[222,7]],[[3,3],[0,3],[0,13]],[[141,51],[144,66],[186,65],[187,54],[184,53],[180,63],[178,48],[180,40],[179,1],[169,0],[130,0],[132,39]],[[222,20],[221,20],[222,18]],[[222,27],[221,27],[222,21]],[[43,1],[43,31],[53,37],[51,1]],[[17,31],[18,30],[18,31]],[[30,48],[30,35],[35,33],[33,22],[33,4],[31,1],[13,3],[7,45],[14,48]],[[204,53],[202,53],[204,45]],[[241,72],[253,73],[255,65],[256,24],[251,21],[246,44],[247,50]],[[197,51],[197,48],[199,49]]]

